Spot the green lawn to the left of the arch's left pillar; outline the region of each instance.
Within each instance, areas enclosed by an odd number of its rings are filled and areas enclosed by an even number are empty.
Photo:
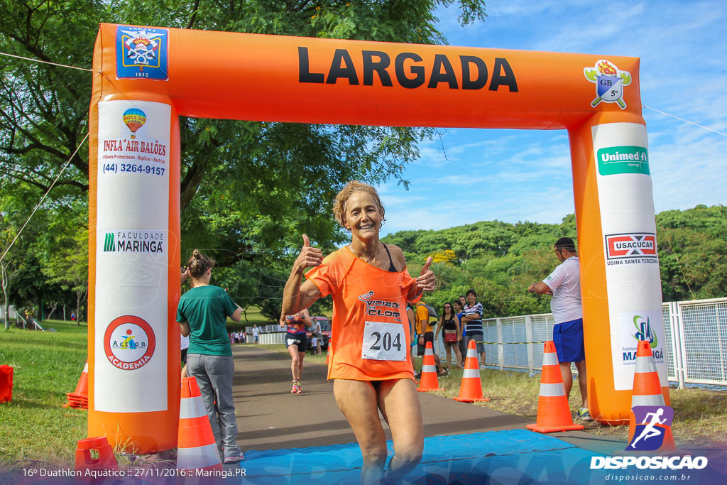
[[[76,442],[86,438],[87,412],[63,404],[84,369],[87,326],[54,320],[43,325],[57,332],[0,330],[0,364],[14,368],[12,401],[0,404],[1,468],[22,466],[23,460],[72,468]]]

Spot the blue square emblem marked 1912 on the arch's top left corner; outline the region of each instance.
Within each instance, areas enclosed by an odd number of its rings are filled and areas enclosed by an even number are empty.
[[[164,28],[116,26],[116,77],[166,81],[169,31]]]

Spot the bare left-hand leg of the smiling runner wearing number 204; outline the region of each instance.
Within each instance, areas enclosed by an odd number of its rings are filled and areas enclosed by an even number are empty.
[[[381,483],[388,452],[384,428],[379,420],[374,386],[366,381],[336,379],[333,383],[333,395],[336,404],[351,425],[353,434],[356,435],[358,446],[361,447],[361,456],[364,458],[361,483]],[[417,409],[418,405],[417,401]],[[421,412],[419,412],[419,422],[421,422]]]

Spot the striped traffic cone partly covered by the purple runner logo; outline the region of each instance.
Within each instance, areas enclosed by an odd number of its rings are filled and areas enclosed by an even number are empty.
[[[638,406],[661,406],[662,408],[667,406],[664,402],[662,385],[659,381],[659,372],[656,371],[654,354],[651,353],[651,345],[648,340],[639,340],[638,347],[636,348],[636,369],[634,370],[634,385],[631,395],[631,413],[629,420],[629,444],[632,443],[637,425],[643,424],[636,420],[634,408]],[[659,413],[663,413],[663,410],[660,410]],[[671,411],[670,413],[673,414]],[[670,417],[669,419],[671,420],[672,418]],[[627,447],[625,453],[650,453],[658,455],[691,454],[677,448],[674,442],[674,436],[672,435],[671,425],[656,424],[656,427],[664,430],[664,441],[662,441],[662,446],[659,449],[643,452]]]

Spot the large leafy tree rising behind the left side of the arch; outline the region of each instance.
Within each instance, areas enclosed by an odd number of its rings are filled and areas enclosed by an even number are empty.
[[[485,17],[481,0],[0,0],[0,52],[90,69],[102,22],[445,43],[433,12],[449,4],[459,5],[462,23]],[[0,56],[0,196],[23,191],[28,209],[48,190],[88,131],[91,81],[90,72]],[[252,301],[273,313],[267,308],[279,300],[281,287],[278,296],[263,298],[275,285],[260,275],[275,275],[279,284],[281,268],[268,262],[289,261],[301,233],[334,249],[344,238],[330,215],[335,193],[353,179],[377,184],[393,178],[406,185],[404,167],[431,134],[413,127],[182,118],[182,257],[194,247],[206,248],[221,268],[229,268],[226,279],[247,298],[239,303]],[[58,228],[33,246],[46,254],[38,260],[47,284],[60,284],[62,265],[55,256],[79,240],[77,221],[87,214],[88,187],[83,148],[42,208],[45,220],[61,217],[62,207],[76,211],[63,213],[65,231]]]

